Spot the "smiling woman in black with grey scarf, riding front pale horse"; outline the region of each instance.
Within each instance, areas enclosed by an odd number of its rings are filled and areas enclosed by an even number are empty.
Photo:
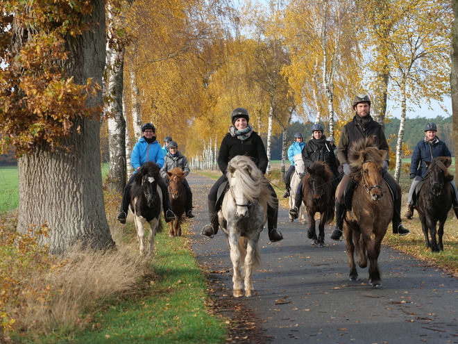
[[[208,195],[208,213],[210,215],[210,224],[205,225],[202,229],[202,235],[207,238],[213,238],[214,234],[217,234],[219,229],[219,222],[217,213],[221,208],[223,197],[218,199],[218,189],[222,183],[227,182],[226,172],[230,159],[235,156],[245,155],[250,156],[255,161],[256,166],[266,173],[267,169],[267,155],[266,149],[262,139],[253,128],[248,124],[250,117],[248,111],[244,108],[236,108],[232,111],[230,118],[232,120],[232,126],[229,128],[229,133],[224,136],[221,146],[219,147],[218,165],[223,175],[219,177],[216,183],[212,186],[210,194]],[[277,218],[278,218],[278,199],[269,184],[271,193],[275,198],[276,206],[274,208],[269,207],[267,209],[267,227],[269,229],[269,240],[271,242],[280,241],[283,239],[282,234],[277,229]]]

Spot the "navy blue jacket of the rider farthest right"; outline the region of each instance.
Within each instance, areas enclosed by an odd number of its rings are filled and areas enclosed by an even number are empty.
[[[432,142],[429,142],[425,137],[414,148],[410,163],[410,173],[415,173],[417,176],[424,178],[427,174],[425,161],[432,161],[433,158],[438,156],[452,157],[446,142],[439,140],[437,136]]]

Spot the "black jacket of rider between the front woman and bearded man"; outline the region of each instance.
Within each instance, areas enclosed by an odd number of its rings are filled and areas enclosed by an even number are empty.
[[[310,167],[315,161],[324,161],[334,174],[334,177],[339,177],[339,167],[334,155],[334,149],[332,149],[330,142],[326,141],[324,135],[318,140],[312,138],[307,142],[302,151],[302,159],[305,167]]]

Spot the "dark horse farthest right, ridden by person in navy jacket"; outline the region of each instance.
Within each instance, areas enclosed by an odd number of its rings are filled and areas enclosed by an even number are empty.
[[[426,247],[432,252],[443,251],[443,225],[446,223],[448,211],[452,208],[452,186],[450,181],[453,175],[448,172],[452,159],[448,156],[439,156],[431,162],[425,161],[427,176],[421,186],[415,205],[421,221],[421,229],[425,235]],[[436,224],[439,221],[439,229]],[[431,234],[431,240],[428,236]],[[436,238],[436,234],[437,237]],[[438,240],[439,239],[439,240]]]

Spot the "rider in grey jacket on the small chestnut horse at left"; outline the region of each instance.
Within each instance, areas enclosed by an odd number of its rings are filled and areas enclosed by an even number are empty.
[[[180,167],[183,172],[185,172],[185,177],[189,174],[189,165],[187,164],[187,158],[180,151],[178,151],[178,143],[175,141],[169,142],[169,153],[164,156],[164,166],[160,170],[162,178],[164,178],[167,183],[169,181],[168,171],[173,170],[173,168]],[[186,205],[185,205],[185,214],[187,218],[194,218],[192,213],[192,191],[189,187],[189,183],[186,178],[183,179],[183,184],[186,187]]]

